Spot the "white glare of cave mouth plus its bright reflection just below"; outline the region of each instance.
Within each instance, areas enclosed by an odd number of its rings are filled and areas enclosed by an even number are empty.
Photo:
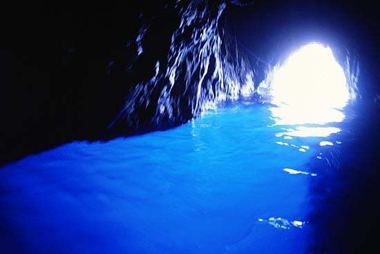
[[[343,121],[350,92],[332,50],[317,43],[303,46],[267,78],[276,124],[325,124]]]

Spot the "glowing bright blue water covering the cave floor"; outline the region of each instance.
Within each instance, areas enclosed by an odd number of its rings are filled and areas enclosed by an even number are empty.
[[[309,187],[336,164],[326,155],[342,134],[279,135],[290,127],[274,123],[269,106],[240,103],[5,166],[3,244],[19,253],[307,253]]]

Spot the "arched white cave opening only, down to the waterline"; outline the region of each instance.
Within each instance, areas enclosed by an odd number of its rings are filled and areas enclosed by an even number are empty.
[[[330,48],[312,43],[291,55],[272,80],[275,104],[343,108],[350,97]]]

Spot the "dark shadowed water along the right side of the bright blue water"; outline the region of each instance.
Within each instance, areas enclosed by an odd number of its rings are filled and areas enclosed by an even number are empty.
[[[379,252],[380,128],[367,117],[380,116],[358,117],[342,148],[327,156],[336,164],[310,184],[310,253]]]

